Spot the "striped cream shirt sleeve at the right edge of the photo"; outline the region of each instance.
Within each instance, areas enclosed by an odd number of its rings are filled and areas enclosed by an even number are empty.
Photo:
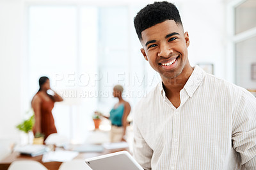
[[[256,98],[246,91],[234,110],[236,118],[232,125],[232,144],[241,155],[241,164],[246,169],[256,167]]]

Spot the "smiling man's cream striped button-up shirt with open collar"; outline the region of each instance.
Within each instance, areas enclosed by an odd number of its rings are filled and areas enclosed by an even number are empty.
[[[162,82],[134,109],[144,169],[256,169],[256,98],[195,66],[176,109]]]

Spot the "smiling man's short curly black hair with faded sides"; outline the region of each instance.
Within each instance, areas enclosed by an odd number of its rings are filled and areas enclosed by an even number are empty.
[[[174,4],[167,1],[148,4],[134,17],[134,27],[138,38],[142,40],[142,31],[165,20],[174,20],[176,24],[182,25],[179,10]]]

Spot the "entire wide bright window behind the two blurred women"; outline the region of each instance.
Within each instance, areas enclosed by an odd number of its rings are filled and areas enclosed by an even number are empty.
[[[145,97],[157,74],[140,53],[133,17],[140,7],[30,5],[28,15],[28,104],[46,75],[64,98],[52,111],[58,133],[83,143],[95,110],[117,102],[113,86],[124,86],[132,107]],[[150,71],[148,71],[150,68]]]

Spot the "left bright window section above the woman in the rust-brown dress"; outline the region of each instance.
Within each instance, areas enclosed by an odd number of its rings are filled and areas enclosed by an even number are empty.
[[[38,88],[38,75],[53,78],[58,73],[76,71],[76,30],[76,8],[73,6],[29,8],[29,95]],[[60,83],[52,85],[63,88],[64,82]]]

